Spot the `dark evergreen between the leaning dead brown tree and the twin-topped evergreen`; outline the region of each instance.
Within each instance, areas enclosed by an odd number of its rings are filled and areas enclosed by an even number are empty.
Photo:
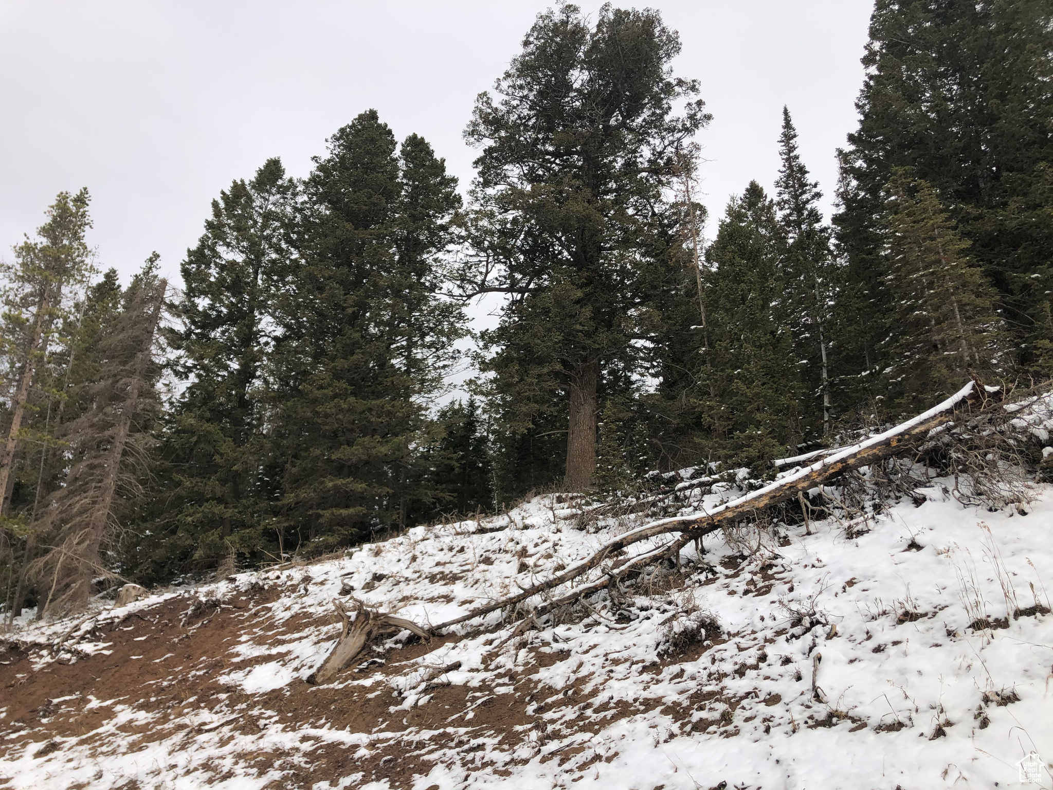
[[[264,426],[263,364],[276,292],[287,271],[297,187],[278,159],[238,179],[212,203],[204,234],[180,269],[180,325],[167,335],[186,381],[163,436],[155,536],[142,561],[214,565],[232,549],[273,549],[277,495]],[[155,538],[156,539],[156,538]],[[140,568],[146,573],[146,567]]]

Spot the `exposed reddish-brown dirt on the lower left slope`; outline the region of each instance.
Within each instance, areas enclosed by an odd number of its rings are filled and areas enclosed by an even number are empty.
[[[659,699],[611,703],[602,698],[602,693],[590,696],[581,679],[554,691],[538,683],[537,675],[541,668],[565,656],[544,647],[532,650],[524,669],[491,676],[475,687],[452,686],[439,677],[428,689],[433,695],[428,705],[409,711],[392,712],[400,699],[385,684],[375,685],[381,691],[345,684],[371,674],[397,676],[405,671],[406,663],[454,640],[454,636],[408,644],[389,653],[386,664],[374,665],[365,672],[345,670],[333,686],[314,687],[295,679],[281,689],[251,695],[220,682],[218,678],[232,669],[244,670],[273,660],[273,655],[238,661],[230,658],[231,648],[246,631],[265,627],[270,640],[278,643],[283,635],[307,626],[325,626],[335,619],[330,613],[320,613],[316,618],[296,616],[276,626],[264,605],[290,592],[287,587],[260,587],[233,599],[204,603],[193,595],[176,596],[97,627],[88,636],[104,646],[100,652],[78,654],[76,648],[67,648],[72,658],[48,663],[37,660],[39,656],[35,653],[41,650],[40,646],[26,650],[25,646],[7,643],[5,652],[0,653],[0,709],[6,709],[0,726],[0,732],[6,735],[4,750],[12,753],[39,744],[31,749],[43,756],[61,750],[63,738],[88,736],[81,743],[92,743],[94,737],[112,739],[113,730],[104,735],[91,733],[113,720],[114,705],[161,714],[148,725],[134,720],[116,725],[116,735],[134,736],[137,750],[174,734],[194,736],[220,727],[237,736],[256,735],[279,724],[301,729],[324,723],[333,729],[371,732],[378,737],[369,749],[319,739],[310,752],[309,764],[303,761],[302,749],[289,754],[265,751],[241,756],[261,771],[284,771],[280,781],[269,785],[273,788],[311,787],[322,781],[336,783],[358,772],[364,773],[363,781],[388,779],[392,788],[410,788],[415,775],[426,774],[433,766],[425,755],[439,749],[455,750],[463,761],[471,763],[474,758],[481,766],[488,764],[488,747],[509,747],[510,738],[519,740],[523,733],[543,747],[556,732],[596,733],[613,719],[663,705]],[[723,643],[722,638],[715,640],[718,645]],[[678,661],[694,660],[712,644],[691,645],[682,655],[656,661],[645,669],[659,673]],[[680,705],[667,706],[664,712],[682,723],[684,732],[724,728],[734,734],[728,727],[728,716],[724,719],[693,716],[694,711],[706,708],[715,698],[724,702],[731,711],[739,702],[723,700],[712,693],[694,694]],[[261,711],[266,715],[262,716]],[[202,713],[211,714],[204,716],[207,724],[201,724]],[[542,713],[561,714],[559,725],[554,728],[547,725]],[[194,720],[188,714],[195,714]],[[549,732],[548,728],[553,729]],[[429,736],[421,737],[421,749],[408,749],[415,733],[424,731],[429,731]],[[563,749],[552,758],[562,764],[581,749]],[[501,773],[508,767],[505,764],[492,770]],[[214,768],[216,778],[223,778],[223,770],[219,766]]]

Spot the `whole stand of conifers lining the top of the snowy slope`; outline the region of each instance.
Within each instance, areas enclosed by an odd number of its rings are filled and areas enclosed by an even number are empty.
[[[793,106],[774,191],[707,217],[680,46],[657,11],[544,11],[464,118],[471,183],[356,108],[305,177],[217,194],[178,280],[100,263],[91,184],[41,205],[0,256],[7,623],[533,494],[770,481],[1053,377],[1048,0],[877,0],[829,222]]]

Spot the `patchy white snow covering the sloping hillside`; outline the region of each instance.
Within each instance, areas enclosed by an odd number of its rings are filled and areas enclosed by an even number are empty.
[[[1028,428],[1049,418],[1048,409],[1040,419],[1032,419],[1035,413],[1024,410]],[[1053,614],[1041,609],[1053,588],[1053,487],[1036,485],[1025,514],[965,508],[952,486],[935,479],[920,489],[920,507],[908,498],[851,529],[832,519],[813,521],[811,535],[783,530],[788,541],[764,537],[744,558],[740,547],[714,535],[703,557],[684,550],[680,588],[647,594],[638,584],[621,601],[598,598],[581,621],[545,621],[521,635],[493,612],[485,618],[492,630],[462,624],[461,639],[396,674],[345,671],[334,685],[382,694],[393,714],[426,710],[435,698],[429,680],[437,676],[468,692],[461,709],[442,713],[434,729],[413,730],[402,745],[429,766],[404,783],[417,790],[696,790],[721,782],[798,790],[1019,787],[1017,761],[1032,750],[1047,766],[1053,759]],[[740,492],[717,485],[689,493],[678,517],[715,512]],[[306,677],[339,632],[332,600],[344,584],[371,607],[435,624],[573,567],[649,522],[643,514],[597,512],[536,497],[501,516],[417,527],[340,558],[202,586],[194,590],[200,599],[224,600],[254,582],[284,591],[231,640],[231,669],[220,680],[252,695],[252,698]],[[629,556],[668,539],[641,541]],[[66,644],[84,654],[104,650],[90,641],[101,618],[146,611],[178,594],[100,611],[79,625],[26,623],[19,638],[39,647],[37,667],[62,655],[77,659],[68,648],[47,646],[69,631]],[[1014,617],[1018,609],[1022,615]],[[977,625],[978,617],[994,627]],[[278,628],[301,619],[302,627]],[[659,657],[672,634],[699,624],[704,650]],[[385,658],[401,660],[397,650]],[[523,700],[528,693],[534,724],[477,726],[488,700]],[[88,705],[112,717],[63,739],[61,749],[35,757],[39,743],[0,746],[4,786],[264,788],[287,776],[249,755],[299,755],[309,765],[310,754],[329,744],[346,750],[345,774],[314,788],[378,790],[391,785],[373,781],[359,763],[408,737],[374,731],[373,722],[354,731],[324,719],[274,720],[245,733],[233,726],[233,698],[226,708],[187,713],[178,726],[131,698]],[[272,714],[260,703],[253,715]],[[140,743],[121,729],[128,723],[156,731]],[[450,745],[454,735],[460,746]],[[1050,787],[1048,773],[1044,781]]]

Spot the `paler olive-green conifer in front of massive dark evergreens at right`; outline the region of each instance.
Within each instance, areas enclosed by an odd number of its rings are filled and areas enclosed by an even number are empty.
[[[1004,324],[994,289],[965,251],[935,191],[897,169],[889,183],[888,283],[894,298],[889,375],[895,404],[913,413],[968,380],[1002,372]]]

